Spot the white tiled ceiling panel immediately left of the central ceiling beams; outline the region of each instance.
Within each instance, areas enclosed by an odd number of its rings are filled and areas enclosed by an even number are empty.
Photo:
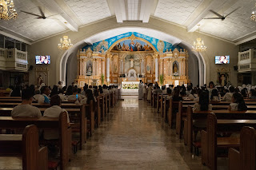
[[[65,0],[82,24],[88,24],[111,16],[106,0]]]

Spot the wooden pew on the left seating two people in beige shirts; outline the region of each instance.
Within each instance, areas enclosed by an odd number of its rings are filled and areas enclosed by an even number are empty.
[[[39,143],[47,144],[57,141],[60,148],[60,168],[64,169],[70,160],[71,151],[71,128],[67,123],[66,113],[61,113],[58,118],[0,117],[0,128],[25,128],[27,125],[36,125],[39,129],[58,129],[58,140],[40,140]]]

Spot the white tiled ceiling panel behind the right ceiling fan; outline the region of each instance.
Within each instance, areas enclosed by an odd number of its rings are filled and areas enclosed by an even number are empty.
[[[255,10],[255,0],[240,0],[224,11],[224,15],[236,10],[230,14],[224,21],[222,20],[203,20],[200,30],[207,34],[211,34],[220,38],[225,38],[230,41],[235,41],[247,34],[256,31],[256,22],[250,20],[250,14]],[[222,10],[221,10],[222,11]],[[221,13],[222,14],[222,13]],[[213,14],[208,14],[206,18],[216,17]]]

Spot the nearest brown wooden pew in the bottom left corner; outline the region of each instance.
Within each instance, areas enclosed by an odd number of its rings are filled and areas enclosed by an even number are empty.
[[[39,148],[38,128],[35,125],[27,125],[22,135],[0,134],[0,154],[6,156],[10,151],[11,154],[22,155],[22,169],[48,169],[47,147]]]

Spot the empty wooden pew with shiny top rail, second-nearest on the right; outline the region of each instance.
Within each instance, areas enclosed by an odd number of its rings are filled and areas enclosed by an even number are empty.
[[[214,113],[207,116],[206,131],[202,130],[202,164],[217,169],[218,148],[239,148],[237,137],[217,137],[217,132],[240,132],[243,126],[256,127],[256,120],[217,120]]]

